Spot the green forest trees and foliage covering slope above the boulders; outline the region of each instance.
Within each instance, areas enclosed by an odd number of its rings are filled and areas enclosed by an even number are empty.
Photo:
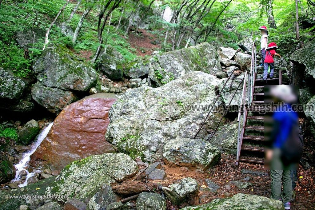
[[[283,52],[315,36],[311,0],[6,0],[0,19],[1,66],[20,77],[52,43],[84,52],[91,64],[111,45],[131,62],[137,54],[129,35],[143,28],[158,38],[159,51],[201,42],[238,48],[262,25]]]

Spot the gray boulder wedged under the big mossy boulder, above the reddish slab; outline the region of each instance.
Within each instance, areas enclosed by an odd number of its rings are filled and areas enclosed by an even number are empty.
[[[31,93],[38,104],[55,114],[77,99],[72,91],[47,87],[41,82],[34,84]]]

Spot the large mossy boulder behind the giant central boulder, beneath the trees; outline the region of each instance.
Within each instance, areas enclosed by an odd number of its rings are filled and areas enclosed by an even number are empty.
[[[182,77],[191,71],[215,74],[221,71],[216,49],[209,43],[201,43],[154,55],[149,62],[149,79],[156,86]]]

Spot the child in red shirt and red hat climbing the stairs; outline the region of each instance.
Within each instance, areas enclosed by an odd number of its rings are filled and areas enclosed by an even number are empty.
[[[281,55],[276,53],[276,48],[278,48],[277,44],[272,42],[268,44],[268,48],[266,49],[266,58],[264,60],[264,77],[263,81],[266,84],[267,83],[267,75],[268,75],[268,68],[270,66],[270,74],[269,77],[272,79],[273,77],[273,71],[274,71],[274,61],[273,61],[273,56],[277,55],[281,58]]]

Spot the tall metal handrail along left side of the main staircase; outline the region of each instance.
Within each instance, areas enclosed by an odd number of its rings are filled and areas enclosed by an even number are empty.
[[[253,88],[254,88],[254,67],[255,67],[255,74],[257,73],[257,54],[256,54],[256,43],[253,42],[252,46],[252,59],[251,59],[251,65],[250,65],[250,71],[246,71],[244,75],[243,80],[243,90],[242,90],[242,97],[241,97],[241,103],[239,105],[238,109],[238,139],[237,139],[237,153],[236,153],[236,164],[238,164],[240,151],[241,151],[241,115],[242,115],[242,108],[245,110],[246,108],[246,98],[247,98],[247,105],[248,107],[252,104],[253,101]],[[246,86],[246,76],[248,76],[247,83],[248,86]],[[247,94],[247,95],[246,95]],[[243,117],[243,124],[242,124],[242,130],[245,126],[245,117]]]

